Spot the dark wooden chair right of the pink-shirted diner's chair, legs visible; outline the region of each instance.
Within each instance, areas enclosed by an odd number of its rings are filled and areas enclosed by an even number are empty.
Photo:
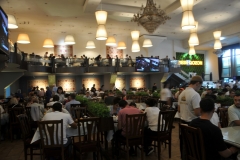
[[[168,144],[168,156],[171,158],[172,126],[176,112],[173,110],[159,112],[157,135],[151,137],[154,141],[154,148],[158,148],[158,160],[160,160],[161,142],[165,143],[165,147]]]

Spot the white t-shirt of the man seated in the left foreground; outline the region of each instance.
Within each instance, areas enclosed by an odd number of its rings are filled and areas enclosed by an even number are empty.
[[[66,144],[67,143],[67,136],[66,136],[67,127],[69,124],[73,123],[73,120],[69,114],[58,112],[58,111],[50,112],[50,113],[45,114],[42,121],[61,120],[61,119],[63,119],[63,144]],[[59,126],[59,128],[60,128],[60,126]],[[61,130],[60,129],[59,129],[58,135],[59,135],[59,141],[60,141],[61,140],[61,137],[60,137]]]

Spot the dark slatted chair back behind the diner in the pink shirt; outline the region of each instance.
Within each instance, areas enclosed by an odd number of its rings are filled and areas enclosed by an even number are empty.
[[[145,114],[127,114],[126,115],[126,138],[141,138],[144,133]]]

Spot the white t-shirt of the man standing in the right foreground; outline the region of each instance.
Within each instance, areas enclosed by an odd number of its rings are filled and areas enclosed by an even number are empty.
[[[186,122],[191,122],[197,118],[194,114],[194,109],[200,108],[200,95],[192,88],[187,87],[178,97],[178,105],[180,106],[181,119]]]

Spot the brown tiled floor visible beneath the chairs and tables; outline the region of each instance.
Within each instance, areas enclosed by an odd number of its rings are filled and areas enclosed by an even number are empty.
[[[172,131],[172,158],[168,158],[168,148],[165,149],[164,145],[161,148],[161,160],[180,160],[180,151],[179,151],[179,138],[178,138],[178,124],[174,123],[176,128]],[[167,146],[168,147],[168,146]],[[121,159],[125,159],[125,153],[121,152]],[[144,157],[145,160],[156,160],[157,152],[153,152],[150,156]],[[30,159],[30,156],[28,157]],[[40,160],[40,156],[34,156],[34,160]],[[85,160],[91,160],[92,154],[85,155],[83,157]],[[111,157],[109,159],[112,159]],[[141,159],[140,153],[137,156],[130,156],[131,160]],[[23,154],[23,142],[21,139],[13,140],[4,140],[0,143],[0,160],[24,160]]]

